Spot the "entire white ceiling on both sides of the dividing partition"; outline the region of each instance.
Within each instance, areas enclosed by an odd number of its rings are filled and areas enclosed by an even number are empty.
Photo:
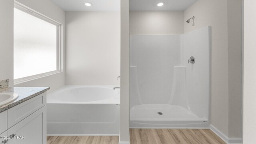
[[[197,0],[130,0],[131,11],[174,11],[186,10]],[[120,11],[120,0],[52,0],[65,11]],[[85,2],[92,6],[85,6]],[[164,6],[156,6],[164,2]]]

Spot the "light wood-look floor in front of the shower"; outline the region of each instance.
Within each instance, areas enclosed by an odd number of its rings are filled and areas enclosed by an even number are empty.
[[[209,129],[130,129],[130,144],[226,144]]]

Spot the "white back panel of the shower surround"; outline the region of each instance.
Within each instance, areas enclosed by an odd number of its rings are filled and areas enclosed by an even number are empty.
[[[136,91],[131,97],[136,105],[168,104],[174,66],[181,63],[180,35],[133,35],[130,40],[131,89]]]

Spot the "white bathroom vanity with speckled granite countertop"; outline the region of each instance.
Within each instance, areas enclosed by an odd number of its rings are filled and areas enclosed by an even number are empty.
[[[0,144],[46,144],[46,90],[14,87],[0,90],[19,97],[0,106]]]

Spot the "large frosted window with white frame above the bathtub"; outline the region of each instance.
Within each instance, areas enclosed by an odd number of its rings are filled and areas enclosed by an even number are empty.
[[[60,72],[60,24],[14,8],[14,83]]]

